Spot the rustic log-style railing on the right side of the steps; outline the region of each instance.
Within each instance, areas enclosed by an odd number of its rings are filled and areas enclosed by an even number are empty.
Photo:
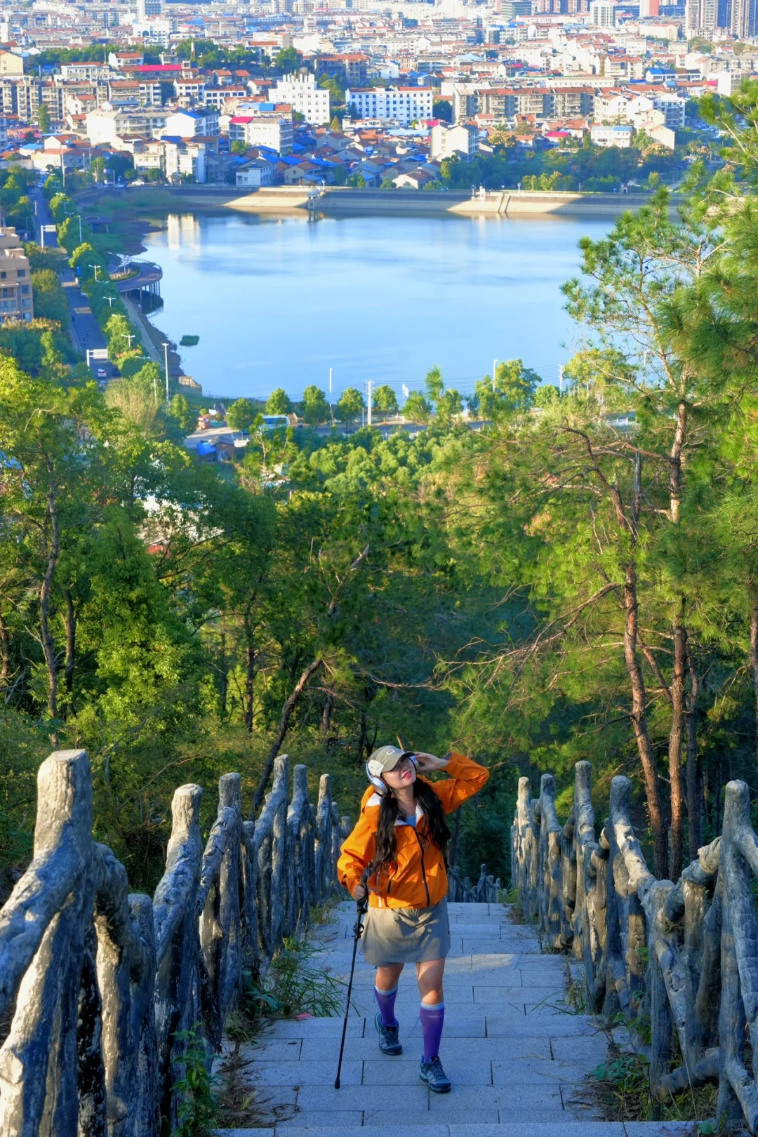
[[[552,774],[542,775],[539,798],[527,778],[518,783],[511,885],[526,920],[550,947],[581,961],[592,1010],[628,1021],[658,1099],[718,1081],[718,1119],[758,1131],[758,837],[749,787],[726,786],[722,836],[675,883],[648,869],[627,778],[611,782],[599,836],[589,762],[576,764],[564,825],[555,792]]]

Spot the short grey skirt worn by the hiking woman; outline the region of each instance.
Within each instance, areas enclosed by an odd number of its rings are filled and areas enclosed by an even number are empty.
[[[366,963],[425,963],[450,952],[448,898],[430,908],[369,907],[364,921],[361,952]]]

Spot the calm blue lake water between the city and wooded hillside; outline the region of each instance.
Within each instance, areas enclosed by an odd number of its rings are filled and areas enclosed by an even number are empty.
[[[293,398],[367,380],[420,390],[434,364],[463,395],[493,359],[547,382],[576,347],[560,285],[603,219],[169,215],[145,239],[164,271],[158,326],[209,395]]]

